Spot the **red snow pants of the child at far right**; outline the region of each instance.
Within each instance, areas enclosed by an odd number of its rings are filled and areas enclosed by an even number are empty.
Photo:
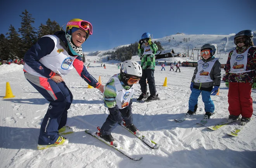
[[[228,111],[230,115],[242,115],[251,118],[253,115],[253,99],[251,83],[229,82]]]

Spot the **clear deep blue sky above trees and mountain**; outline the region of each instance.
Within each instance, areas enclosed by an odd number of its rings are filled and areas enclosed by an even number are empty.
[[[255,0],[8,0],[0,5],[0,34],[10,24],[18,31],[28,10],[36,29],[48,18],[60,26],[74,18],[92,23],[83,51],[108,50],[134,43],[145,32],[153,38],[176,34],[230,34],[256,30]]]

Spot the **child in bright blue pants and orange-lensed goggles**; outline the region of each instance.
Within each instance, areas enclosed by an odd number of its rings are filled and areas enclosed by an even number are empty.
[[[210,95],[216,95],[220,87],[221,70],[220,62],[214,57],[216,48],[213,44],[205,44],[201,47],[202,59],[197,62],[194,70],[190,90],[192,91],[189,98],[189,111],[185,117],[190,117],[197,110],[197,101],[202,94],[204,102],[205,115],[203,121],[207,122],[214,111],[214,103]]]

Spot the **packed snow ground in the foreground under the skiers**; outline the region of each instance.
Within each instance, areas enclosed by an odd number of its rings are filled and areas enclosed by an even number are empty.
[[[93,57],[92,57],[93,58]],[[90,64],[88,72],[105,84],[119,73],[112,62],[106,69],[100,63]],[[37,150],[40,124],[48,109],[48,102],[26,81],[22,65],[0,66],[0,164],[1,168],[253,168],[256,165],[256,120],[252,120],[237,137],[227,135],[237,123],[212,131],[207,126],[225,121],[229,115],[228,88],[221,82],[220,95],[212,96],[215,115],[205,126],[197,125],[205,111],[199,96],[197,114],[182,123],[174,121],[188,110],[190,81],[194,68],[181,67],[181,72],[155,70],[156,89],[160,101],[136,102],[140,86],[135,84],[132,107],[133,122],[137,128],[161,147],[150,149],[137,137],[117,125],[112,131],[116,141],[133,156],[143,156],[132,161],[103,142],[85,134],[85,129],[96,131],[108,115],[98,89],[88,89],[88,84],[75,70],[64,76],[73,93],[73,104],[68,111],[67,125],[74,133],[67,135],[69,144]],[[223,74],[222,70],[222,74]],[[167,87],[163,87],[167,77]],[[3,99],[6,82],[10,82],[14,98]],[[253,109],[256,110],[256,91],[252,91]],[[201,109],[202,111],[199,111]],[[255,116],[253,115],[253,118]]]

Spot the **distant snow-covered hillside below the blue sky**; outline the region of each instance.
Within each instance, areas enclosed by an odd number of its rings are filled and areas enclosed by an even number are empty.
[[[217,45],[217,52],[215,57],[220,58],[220,63],[225,64],[227,62],[228,53],[231,50],[234,50],[235,44],[234,44],[234,36],[235,34],[229,34],[229,35],[215,35],[215,34],[174,34],[170,36],[166,36],[159,39],[152,39],[152,41],[160,41],[161,45],[163,46],[165,51],[173,51],[175,53],[187,53],[189,50],[189,57],[175,57],[175,58],[163,58],[163,59],[157,59],[159,62],[174,62],[174,61],[189,61],[189,62],[197,62],[197,54],[198,50],[193,50],[193,48],[201,48],[202,45],[206,43],[213,43]],[[186,42],[187,41],[187,42]],[[254,32],[254,38],[253,38],[254,44],[256,44],[256,35]],[[123,45],[128,46],[128,45]],[[97,56],[101,57],[103,53],[105,52],[112,52],[116,51],[117,48],[123,47],[118,46],[111,50],[106,51],[97,51]],[[192,54],[194,53],[194,55]],[[86,55],[90,56],[93,53],[86,53]],[[200,55],[200,51],[199,51]],[[98,58],[99,58],[98,57]],[[107,56],[102,56],[102,58],[106,58]],[[200,58],[199,58],[200,59]]]

